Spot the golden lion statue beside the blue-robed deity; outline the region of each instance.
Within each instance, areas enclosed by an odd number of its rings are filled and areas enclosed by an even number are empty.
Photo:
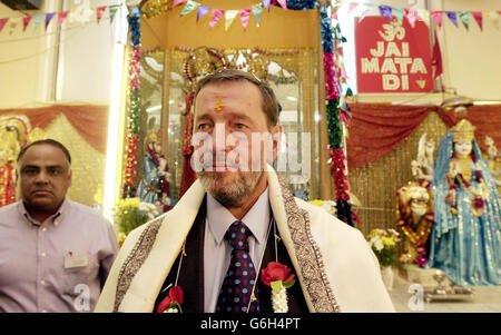
[[[428,242],[433,225],[433,195],[426,180],[409,181],[396,190],[396,223],[404,242],[400,256],[403,264],[426,265]]]

